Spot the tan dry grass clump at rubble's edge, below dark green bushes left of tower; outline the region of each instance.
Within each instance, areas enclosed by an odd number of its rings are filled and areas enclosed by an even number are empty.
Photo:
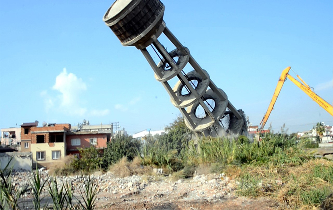
[[[151,175],[153,169],[149,166],[142,166],[139,157],[135,157],[132,162],[129,162],[126,157],[123,157],[118,163],[111,165],[110,172],[123,178],[132,175]]]

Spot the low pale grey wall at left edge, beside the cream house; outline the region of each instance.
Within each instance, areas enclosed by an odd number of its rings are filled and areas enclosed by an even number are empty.
[[[12,161],[11,161],[12,158]],[[4,169],[10,162],[10,168],[31,170],[32,166],[32,153],[31,152],[5,152],[0,153],[0,167]]]

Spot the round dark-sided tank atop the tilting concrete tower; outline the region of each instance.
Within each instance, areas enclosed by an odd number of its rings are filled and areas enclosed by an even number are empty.
[[[117,0],[103,20],[124,46],[146,48],[151,36],[159,36],[165,25],[164,5],[159,0]]]

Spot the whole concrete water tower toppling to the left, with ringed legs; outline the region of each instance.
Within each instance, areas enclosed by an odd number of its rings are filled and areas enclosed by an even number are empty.
[[[217,88],[189,49],[166,27],[164,10],[160,0],[116,0],[103,20],[123,46],[135,46],[142,52],[154,70],[156,80],[164,86],[189,129],[199,136],[246,132],[243,111],[230,103],[226,93]],[[162,33],[176,49],[166,50],[158,40]],[[155,63],[147,47],[152,47],[160,58],[159,63]],[[188,64],[193,70],[185,73],[183,69]],[[179,81],[171,88],[168,81],[175,77]],[[204,111],[204,115],[197,114],[199,109]]]

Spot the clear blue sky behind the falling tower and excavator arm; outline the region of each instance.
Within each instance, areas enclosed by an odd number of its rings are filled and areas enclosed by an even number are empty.
[[[133,134],[180,115],[141,52],[123,47],[102,21],[113,2],[0,1],[0,128],[87,119]],[[166,25],[253,125],[288,66],[333,103],[333,1],[162,2]],[[286,81],[266,126],[296,132],[319,121],[333,125]]]

